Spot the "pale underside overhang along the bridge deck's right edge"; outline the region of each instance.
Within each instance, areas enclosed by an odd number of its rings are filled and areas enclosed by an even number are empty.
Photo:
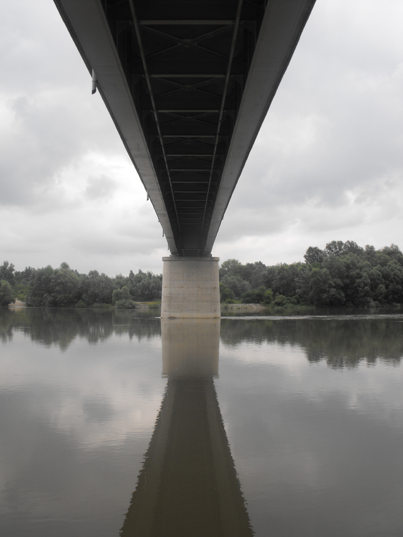
[[[205,254],[212,251],[229,200],[231,200],[278,86],[289,66],[315,1],[272,0],[265,11],[207,233]],[[279,24],[279,20],[286,14],[289,17],[291,14],[294,15],[293,18],[285,19],[288,21],[288,32],[282,31]],[[272,47],[274,39],[278,39],[279,34],[282,34],[282,45]],[[259,93],[260,96],[256,97]]]

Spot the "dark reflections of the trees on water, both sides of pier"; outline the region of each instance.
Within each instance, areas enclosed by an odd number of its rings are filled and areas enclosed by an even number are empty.
[[[58,345],[62,351],[77,338],[95,344],[127,334],[129,339],[141,341],[161,333],[159,318],[148,315],[147,310],[0,309],[0,339],[6,343],[18,331],[42,345]],[[244,342],[297,345],[310,362],[326,360],[332,368],[355,367],[364,360],[368,364],[382,360],[397,365],[403,357],[402,321],[401,314],[221,318],[220,338],[233,347]],[[179,341],[176,337],[169,340]],[[192,354],[197,349],[198,345]],[[179,355],[178,351],[172,350],[171,354]]]

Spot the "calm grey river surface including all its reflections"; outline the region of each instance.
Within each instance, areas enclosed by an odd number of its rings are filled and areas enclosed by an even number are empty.
[[[0,309],[0,535],[403,534],[403,315]]]

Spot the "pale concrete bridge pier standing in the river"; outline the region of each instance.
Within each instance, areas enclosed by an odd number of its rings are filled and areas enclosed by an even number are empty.
[[[219,257],[163,257],[161,318],[220,317]]]

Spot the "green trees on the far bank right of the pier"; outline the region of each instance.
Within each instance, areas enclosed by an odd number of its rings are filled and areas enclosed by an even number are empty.
[[[403,303],[403,254],[392,244],[376,250],[354,241],[309,246],[305,263],[246,263],[220,266],[222,302],[275,306],[373,307]]]

